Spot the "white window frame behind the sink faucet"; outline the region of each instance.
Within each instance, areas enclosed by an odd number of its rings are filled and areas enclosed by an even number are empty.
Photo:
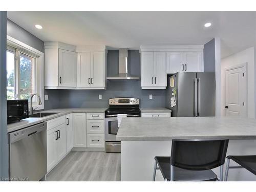
[[[35,68],[36,68],[36,74],[35,74],[35,89],[36,93],[40,95],[41,97],[41,105],[38,105],[37,102],[33,102],[33,108],[36,110],[44,110],[45,109],[45,95],[44,95],[44,53],[38,51],[35,48],[32,48],[28,46],[27,44],[24,44],[24,42],[21,42],[13,37],[10,37],[7,35],[7,46],[16,48],[20,50],[24,54],[28,54],[31,56],[34,56],[35,58]],[[17,56],[17,55],[15,55]],[[17,72],[17,71],[16,71]],[[17,88],[15,88],[17,89]],[[19,93],[18,89],[18,93]],[[38,99],[36,99],[38,101]],[[30,102],[29,102],[29,109],[30,109]]]

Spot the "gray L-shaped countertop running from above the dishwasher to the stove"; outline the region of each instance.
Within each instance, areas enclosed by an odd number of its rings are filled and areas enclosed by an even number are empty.
[[[23,129],[27,126],[31,126],[40,122],[48,121],[62,115],[67,115],[69,113],[104,113],[106,108],[70,108],[70,109],[52,109],[43,112],[58,112],[58,114],[49,115],[42,118],[27,118],[19,122],[10,123],[7,126],[8,133]],[[37,112],[36,112],[37,113]]]

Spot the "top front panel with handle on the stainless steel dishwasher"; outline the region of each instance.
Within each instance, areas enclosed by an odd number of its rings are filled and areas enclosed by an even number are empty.
[[[46,131],[46,129],[47,129],[47,123],[42,122],[42,123],[38,123],[32,126],[26,127],[24,129],[11,132],[8,134],[8,143],[11,144],[19,140],[22,140],[26,137],[32,137],[37,133]]]

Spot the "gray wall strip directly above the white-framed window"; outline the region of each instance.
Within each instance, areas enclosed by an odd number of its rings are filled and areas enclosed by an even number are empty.
[[[22,27],[19,27],[10,19],[7,19],[7,35],[24,42],[25,44],[37,49],[38,51],[43,53],[45,52],[44,41],[32,35]]]

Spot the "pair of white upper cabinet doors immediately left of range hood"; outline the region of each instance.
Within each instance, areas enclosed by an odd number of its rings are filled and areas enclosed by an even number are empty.
[[[79,52],[77,61],[77,87],[105,89],[105,52]]]

